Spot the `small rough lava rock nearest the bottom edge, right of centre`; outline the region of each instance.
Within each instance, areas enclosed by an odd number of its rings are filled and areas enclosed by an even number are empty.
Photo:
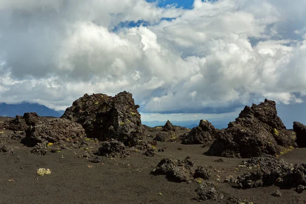
[[[224,195],[216,190],[217,185],[214,182],[205,182],[199,185],[195,190],[197,192],[198,200],[220,200]]]

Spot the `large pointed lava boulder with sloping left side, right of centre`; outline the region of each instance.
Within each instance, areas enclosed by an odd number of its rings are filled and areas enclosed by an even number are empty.
[[[275,102],[245,106],[236,121],[217,133],[208,156],[250,158],[263,154],[279,155],[279,146],[296,146],[294,137],[277,116]]]

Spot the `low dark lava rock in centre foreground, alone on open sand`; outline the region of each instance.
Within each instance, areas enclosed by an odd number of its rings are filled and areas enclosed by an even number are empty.
[[[166,175],[169,181],[185,182],[190,180],[190,176],[194,174],[192,170],[193,166],[194,164],[190,161],[189,157],[186,157],[183,161],[165,158],[158,163],[156,169],[151,173]]]

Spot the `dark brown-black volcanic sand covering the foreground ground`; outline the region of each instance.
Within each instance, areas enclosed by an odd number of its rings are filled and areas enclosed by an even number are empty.
[[[37,156],[30,152],[31,147],[23,146],[19,140],[7,139],[12,133],[8,130],[0,136],[2,144],[14,148],[15,154],[0,152],[0,203],[198,203],[195,189],[199,184],[169,182],[165,175],[152,175],[150,171],[163,158],[183,160],[191,157],[198,166],[208,168],[211,173],[209,181],[216,182],[224,178],[250,171],[238,167],[246,159],[222,158],[203,155],[208,148],[201,145],[183,145],[180,142],[159,142],[157,147],[166,151],[156,152],[155,157],[145,157],[143,151],[130,150],[131,156],[123,159],[103,159],[102,163],[91,163],[83,155],[89,148],[96,151],[99,147],[92,141],[81,148],[63,149],[61,152],[47,152]],[[152,133],[145,133],[148,135]],[[150,141],[152,138],[145,137]],[[68,146],[68,143],[67,143]],[[181,149],[180,149],[181,148]],[[302,163],[306,148],[293,149],[281,158],[290,163]],[[38,176],[38,168],[49,168],[52,173]],[[216,182],[217,183],[217,182]],[[235,196],[244,203],[306,203],[306,191],[298,194],[292,189],[278,187],[253,189],[233,188],[230,183],[217,183],[224,194],[220,201],[206,200],[201,203],[226,203],[227,197]],[[271,194],[279,190],[281,197]]]

